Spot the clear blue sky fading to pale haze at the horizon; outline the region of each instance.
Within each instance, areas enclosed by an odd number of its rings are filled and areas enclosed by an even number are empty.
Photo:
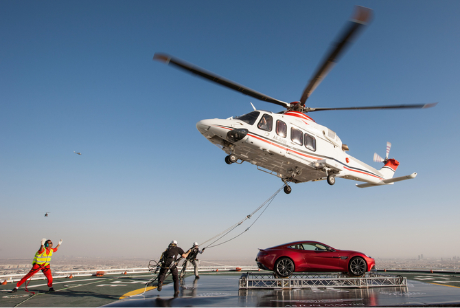
[[[195,124],[249,102],[281,107],[152,56],[299,100],[355,4],[373,20],[307,105],[439,104],[309,115],[375,168],[391,142],[395,176],[417,177],[292,185],[203,259],[302,239],[375,258],[460,256],[459,1],[1,1],[0,258],[32,258],[42,237],[63,239],[62,256],[157,258],[172,239],[189,248],[253,212],[282,182],[228,166]]]

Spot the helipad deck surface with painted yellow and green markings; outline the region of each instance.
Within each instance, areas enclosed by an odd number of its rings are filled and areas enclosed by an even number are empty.
[[[459,274],[393,273],[407,276],[407,287],[294,289],[239,289],[242,272],[200,273],[187,276],[181,293],[174,298],[171,284],[161,292],[150,287],[149,274],[108,275],[56,279],[56,292],[46,294],[46,281],[32,281],[29,289],[41,292],[30,296],[22,288],[1,285],[1,307],[458,307]],[[391,274],[391,273],[388,273]],[[166,281],[170,282],[170,278]],[[142,294],[143,293],[143,294]],[[9,297],[14,295],[15,297]],[[124,296],[131,295],[128,298]],[[8,296],[8,297],[5,297]],[[16,297],[23,296],[23,297]],[[119,300],[120,298],[124,298]]]

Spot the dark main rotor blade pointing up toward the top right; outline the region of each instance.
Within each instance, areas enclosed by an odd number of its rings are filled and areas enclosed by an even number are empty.
[[[336,45],[332,46],[331,52],[317,72],[314,74],[307,87],[303,90],[302,97],[300,99],[301,105],[305,106],[306,100],[313,93],[314,89],[323,81],[327,73],[337,63],[338,58],[341,56],[345,48],[353,40],[354,35],[358,32],[363,25],[366,25],[371,19],[372,10],[369,8],[363,8],[362,6],[356,5],[354,17],[350,19],[348,27],[343,32],[341,39],[337,41]]]

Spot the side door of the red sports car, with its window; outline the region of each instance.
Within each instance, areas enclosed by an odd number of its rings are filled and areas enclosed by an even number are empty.
[[[340,255],[332,248],[320,243],[306,242],[303,245],[303,259],[312,272],[336,272],[340,270]]]

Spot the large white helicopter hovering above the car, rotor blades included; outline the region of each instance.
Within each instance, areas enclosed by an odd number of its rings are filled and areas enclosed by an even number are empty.
[[[371,9],[356,5],[352,19],[345,26],[337,43],[330,48],[297,102],[288,103],[266,96],[168,54],[155,53],[153,60],[174,65],[242,94],[286,108],[285,111],[275,113],[257,110],[251,103],[254,110],[244,115],[227,119],[200,120],[196,128],[209,142],[227,153],[227,164],[249,162],[257,166],[257,169],[279,177],[285,184],[286,194],[292,191],[288,185],[290,183],[326,180],[328,184],[334,185],[336,177],[364,182],[356,184],[358,188],[393,184],[396,181],[413,179],[417,173],[393,177],[400,163],[394,158],[388,158],[390,143],[387,144],[385,159],[374,155],[374,161],[384,163],[384,166],[377,170],[348,155],[348,146],[342,143],[334,131],[318,124],[306,114],[331,110],[424,109],[437,104],[435,102],[367,107],[306,107],[306,100],[337,63],[358,31],[369,23],[371,14]]]

